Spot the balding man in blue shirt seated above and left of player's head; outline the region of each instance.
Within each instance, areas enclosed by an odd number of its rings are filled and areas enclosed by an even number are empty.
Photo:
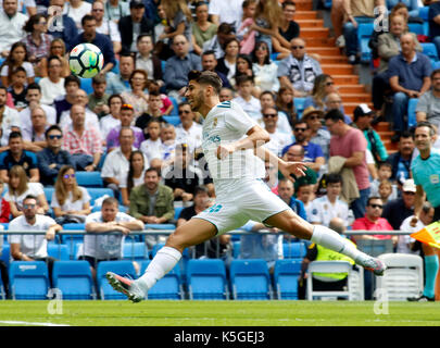
[[[187,88],[188,73],[202,70],[202,64],[200,57],[189,51],[189,42],[184,35],[173,37],[172,48],[175,55],[166,61],[163,77],[168,96],[179,101]]]

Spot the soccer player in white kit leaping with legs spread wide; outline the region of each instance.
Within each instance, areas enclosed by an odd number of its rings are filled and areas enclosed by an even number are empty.
[[[305,164],[285,162],[262,146],[269,141],[267,132],[238,104],[219,102],[222,80],[217,74],[192,71],[188,80],[185,97],[192,111],[204,117],[202,148],[214,179],[215,204],[177,227],[138,279],[109,272],[106,278],[115,290],[133,302],[141,301],[148,290],[179,262],[185,248],[241,227],[249,220],[310,239],[352,258],[376,275],[384,274],[386,266],[380,260],[357,250],[337,232],[301,219],[263,183],[263,160],[277,165],[285,176],[290,173],[304,175]]]

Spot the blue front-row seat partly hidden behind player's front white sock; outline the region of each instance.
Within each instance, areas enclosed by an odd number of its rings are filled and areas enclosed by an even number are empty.
[[[151,261],[143,261],[140,268],[140,274],[143,274]],[[184,290],[181,285],[180,268],[176,265],[173,270],[159,279],[158,283],[148,291],[149,300],[181,300]]]

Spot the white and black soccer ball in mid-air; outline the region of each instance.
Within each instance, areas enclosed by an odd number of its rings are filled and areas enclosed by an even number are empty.
[[[71,51],[68,66],[71,72],[83,78],[90,78],[101,71],[104,57],[101,50],[92,44],[79,44]]]

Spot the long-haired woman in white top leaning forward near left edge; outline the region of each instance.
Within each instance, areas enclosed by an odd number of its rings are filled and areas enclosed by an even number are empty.
[[[4,195],[4,199],[9,202],[11,214],[13,217],[23,215],[24,199],[27,195],[33,195],[38,198],[39,206],[37,212],[46,214],[49,211],[49,204],[40,183],[29,183],[26,172],[23,166],[14,165],[9,170],[9,190]]]

